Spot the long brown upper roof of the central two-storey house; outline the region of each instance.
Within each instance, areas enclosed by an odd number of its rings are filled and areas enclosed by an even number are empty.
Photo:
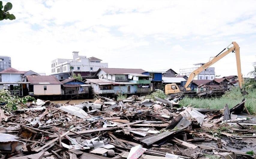
[[[102,71],[108,74],[141,74],[143,72],[146,72],[143,69],[119,69],[119,68],[99,68],[99,69],[101,69]]]

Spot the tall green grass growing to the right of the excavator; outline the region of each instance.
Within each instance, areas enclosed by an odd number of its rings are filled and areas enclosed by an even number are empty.
[[[179,104],[181,106],[192,105],[197,108],[209,108],[209,109],[223,109],[227,104],[229,108],[234,107],[235,105],[242,102],[242,99],[245,98],[245,106],[250,113],[256,113],[256,89],[247,90],[249,93],[244,97],[240,93],[239,88],[233,88],[230,92],[226,92],[222,97],[219,98],[183,98]]]

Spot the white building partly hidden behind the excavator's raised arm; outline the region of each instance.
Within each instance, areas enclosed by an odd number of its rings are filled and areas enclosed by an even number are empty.
[[[179,75],[186,75],[189,77],[189,75],[199,67],[203,66],[205,63],[196,63],[194,64],[196,67],[187,68],[187,69],[179,69]],[[194,80],[213,80],[215,78],[215,68],[214,67],[208,67],[201,73],[199,73],[197,76],[194,77]]]

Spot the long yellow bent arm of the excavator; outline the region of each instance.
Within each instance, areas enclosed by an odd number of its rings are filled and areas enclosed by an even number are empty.
[[[200,72],[202,72],[203,70],[207,69],[209,66],[211,66],[212,64],[214,64],[215,62],[217,62],[218,60],[220,60],[222,57],[226,56],[227,54],[229,54],[230,52],[235,52],[236,54],[236,67],[237,67],[237,74],[238,74],[238,82],[239,82],[239,87],[242,90],[242,83],[243,83],[243,79],[242,79],[242,73],[241,73],[241,62],[240,62],[240,49],[239,46],[236,42],[232,42],[233,47],[227,49],[223,49],[227,51],[225,52],[220,52],[218,55],[216,55],[212,60],[210,60],[209,62],[205,63],[203,66],[199,67],[198,69],[194,70],[188,77],[188,80],[184,86],[184,90],[191,90],[190,88],[187,88],[188,85],[193,81],[193,78],[198,75]]]

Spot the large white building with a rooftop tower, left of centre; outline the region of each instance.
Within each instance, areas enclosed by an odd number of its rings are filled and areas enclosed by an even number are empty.
[[[108,63],[101,63],[96,57],[79,56],[79,52],[73,52],[73,59],[55,59],[51,62],[51,74],[70,71],[97,71],[99,68],[107,68]]]

